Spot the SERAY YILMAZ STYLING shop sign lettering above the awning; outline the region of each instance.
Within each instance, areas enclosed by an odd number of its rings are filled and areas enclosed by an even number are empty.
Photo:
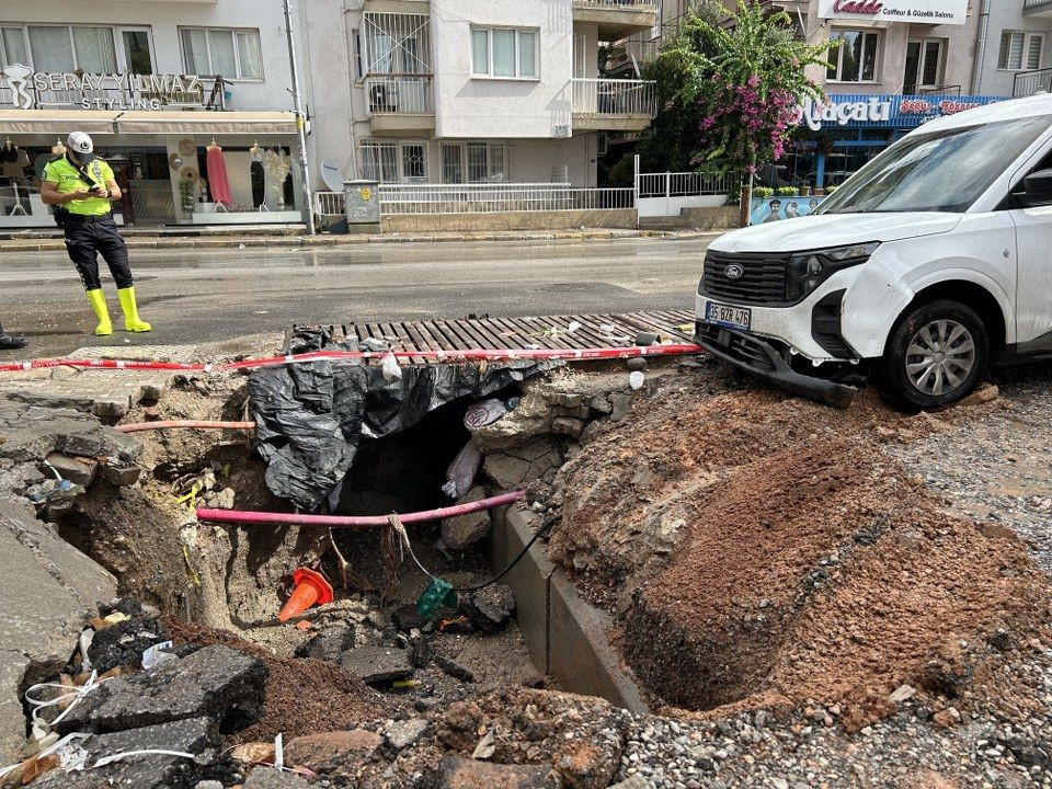
[[[12,64],[3,76],[10,89],[7,103],[18,110],[65,102],[83,110],[161,110],[206,102],[201,78],[187,75],[44,73]]]

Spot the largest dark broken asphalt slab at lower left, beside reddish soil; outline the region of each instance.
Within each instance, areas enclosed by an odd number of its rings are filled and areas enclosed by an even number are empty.
[[[233,732],[263,710],[267,668],[229,647],[205,647],[178,661],[103,683],[59,724],[73,731],[113,732],[210,717]]]

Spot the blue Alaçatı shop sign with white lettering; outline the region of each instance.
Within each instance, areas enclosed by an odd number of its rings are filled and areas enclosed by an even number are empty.
[[[797,111],[797,125],[812,132],[826,126],[913,128],[925,121],[1005,101],[1007,96],[830,95],[810,96]]]

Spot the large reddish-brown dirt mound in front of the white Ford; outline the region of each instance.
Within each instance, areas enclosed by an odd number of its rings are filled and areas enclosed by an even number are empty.
[[[1010,695],[987,639],[1029,640],[1052,594],[1018,540],[947,514],[880,448],[939,420],[869,398],[836,412],[765,391],[663,395],[563,469],[551,540],[619,611],[656,698],[815,700],[856,728],[903,684],[959,708]]]

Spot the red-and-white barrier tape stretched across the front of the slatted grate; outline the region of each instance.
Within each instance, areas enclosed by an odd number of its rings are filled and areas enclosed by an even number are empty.
[[[503,348],[474,348],[471,351],[393,351],[400,361],[424,358],[435,362],[510,361],[510,359],[603,359],[632,358],[634,356],[682,356],[701,353],[702,348],[694,343],[671,345],[645,345],[631,347],[590,347],[590,348],[537,348],[533,351],[506,351]],[[284,364],[304,364],[307,362],[340,362],[345,359],[379,359],[388,352],[373,351],[313,351],[311,353],[271,356],[260,359],[243,359],[222,364],[202,364],[187,362],[145,362],[141,359],[34,359],[30,362],[9,362],[0,364],[0,373],[46,369],[50,367],[76,367],[82,369],[132,369],[132,370],[171,370],[175,373],[224,373],[259,367],[274,367]]]

